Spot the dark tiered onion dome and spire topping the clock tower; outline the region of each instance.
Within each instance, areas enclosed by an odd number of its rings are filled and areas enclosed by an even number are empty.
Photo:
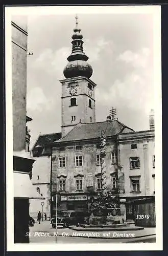
[[[78,28],[78,16],[76,16],[76,28],[74,29],[73,41],[71,42],[73,50],[67,57],[69,62],[63,71],[66,78],[77,76],[90,78],[93,73],[92,67],[87,63],[88,57],[83,52],[83,35],[80,32],[81,30]]]

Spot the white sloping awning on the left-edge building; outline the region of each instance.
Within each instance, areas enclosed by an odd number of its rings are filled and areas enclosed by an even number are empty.
[[[41,197],[32,185],[28,174],[13,173],[14,175],[14,197],[29,199],[45,199]]]

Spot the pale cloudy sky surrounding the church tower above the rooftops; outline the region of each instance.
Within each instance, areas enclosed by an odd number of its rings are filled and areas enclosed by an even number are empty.
[[[28,17],[27,115],[31,147],[39,134],[61,132],[61,83],[71,36],[72,14]],[[154,109],[154,23],[152,14],[78,13],[83,50],[95,88],[96,121],[112,107],[135,131],[149,130]]]

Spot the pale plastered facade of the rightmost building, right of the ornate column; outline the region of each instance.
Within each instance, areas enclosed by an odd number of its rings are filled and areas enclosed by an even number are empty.
[[[119,134],[118,161],[124,176],[119,195],[125,219],[134,220],[137,200],[155,198],[155,135],[154,130]],[[145,212],[143,212],[145,214]]]

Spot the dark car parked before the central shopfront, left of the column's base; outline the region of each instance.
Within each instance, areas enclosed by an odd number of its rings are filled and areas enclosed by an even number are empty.
[[[69,225],[80,226],[80,224],[88,224],[89,214],[84,211],[76,210],[64,210],[61,211],[57,217],[58,225],[63,225],[64,228]],[[51,219],[51,224],[53,228],[56,228],[56,217]]]

